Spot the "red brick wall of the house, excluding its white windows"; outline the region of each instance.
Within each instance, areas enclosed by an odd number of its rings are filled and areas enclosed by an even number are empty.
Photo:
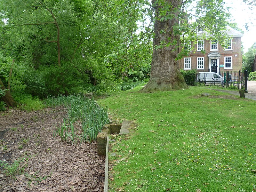
[[[197,69],[197,72],[209,71],[209,57],[208,54],[217,52],[220,56],[220,65],[224,65],[224,57],[232,56],[232,69],[220,68],[220,71],[238,71],[242,69],[242,52],[241,52],[241,37],[235,37],[232,39],[232,51],[224,51],[223,48],[218,43],[218,51],[210,51],[210,40],[204,39],[204,50],[205,53],[197,52],[197,43],[193,44],[194,50],[190,52],[188,56],[191,58],[191,69],[197,68],[197,57],[204,57],[204,70]],[[235,55],[237,55],[235,57]],[[184,69],[184,58],[179,60],[180,69]]]

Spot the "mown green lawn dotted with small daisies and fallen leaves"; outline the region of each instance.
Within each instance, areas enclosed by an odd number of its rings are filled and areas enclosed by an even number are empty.
[[[140,89],[97,101],[137,124],[111,145],[110,191],[256,190],[256,101],[200,87]]]

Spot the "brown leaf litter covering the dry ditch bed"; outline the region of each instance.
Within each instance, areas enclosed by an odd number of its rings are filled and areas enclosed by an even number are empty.
[[[96,143],[53,138],[66,108],[0,113],[0,191],[103,191],[105,159]],[[0,162],[0,163],[1,163]]]

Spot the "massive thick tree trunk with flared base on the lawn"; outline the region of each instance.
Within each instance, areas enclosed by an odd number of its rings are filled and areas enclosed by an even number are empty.
[[[175,60],[178,55],[178,44],[175,44],[175,42],[179,42],[180,35],[174,33],[173,27],[179,24],[182,0],[162,0],[162,3],[160,5],[152,0],[155,10],[154,50],[149,81],[141,92],[172,91],[188,88],[184,77],[180,73],[178,61]],[[161,16],[164,17],[164,20],[161,20],[159,15],[162,12],[163,5],[169,5],[170,10],[164,16]],[[162,48],[155,48],[163,42],[164,46]],[[165,46],[166,44],[170,45]]]

